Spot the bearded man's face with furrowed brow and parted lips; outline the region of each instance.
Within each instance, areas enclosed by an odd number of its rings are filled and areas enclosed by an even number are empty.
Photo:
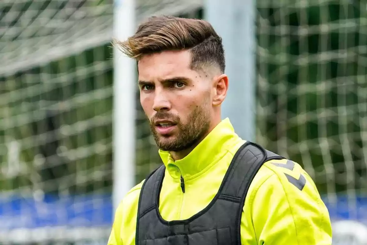
[[[187,50],[146,55],[138,62],[140,102],[164,151],[192,147],[210,127],[210,78],[189,66]]]

